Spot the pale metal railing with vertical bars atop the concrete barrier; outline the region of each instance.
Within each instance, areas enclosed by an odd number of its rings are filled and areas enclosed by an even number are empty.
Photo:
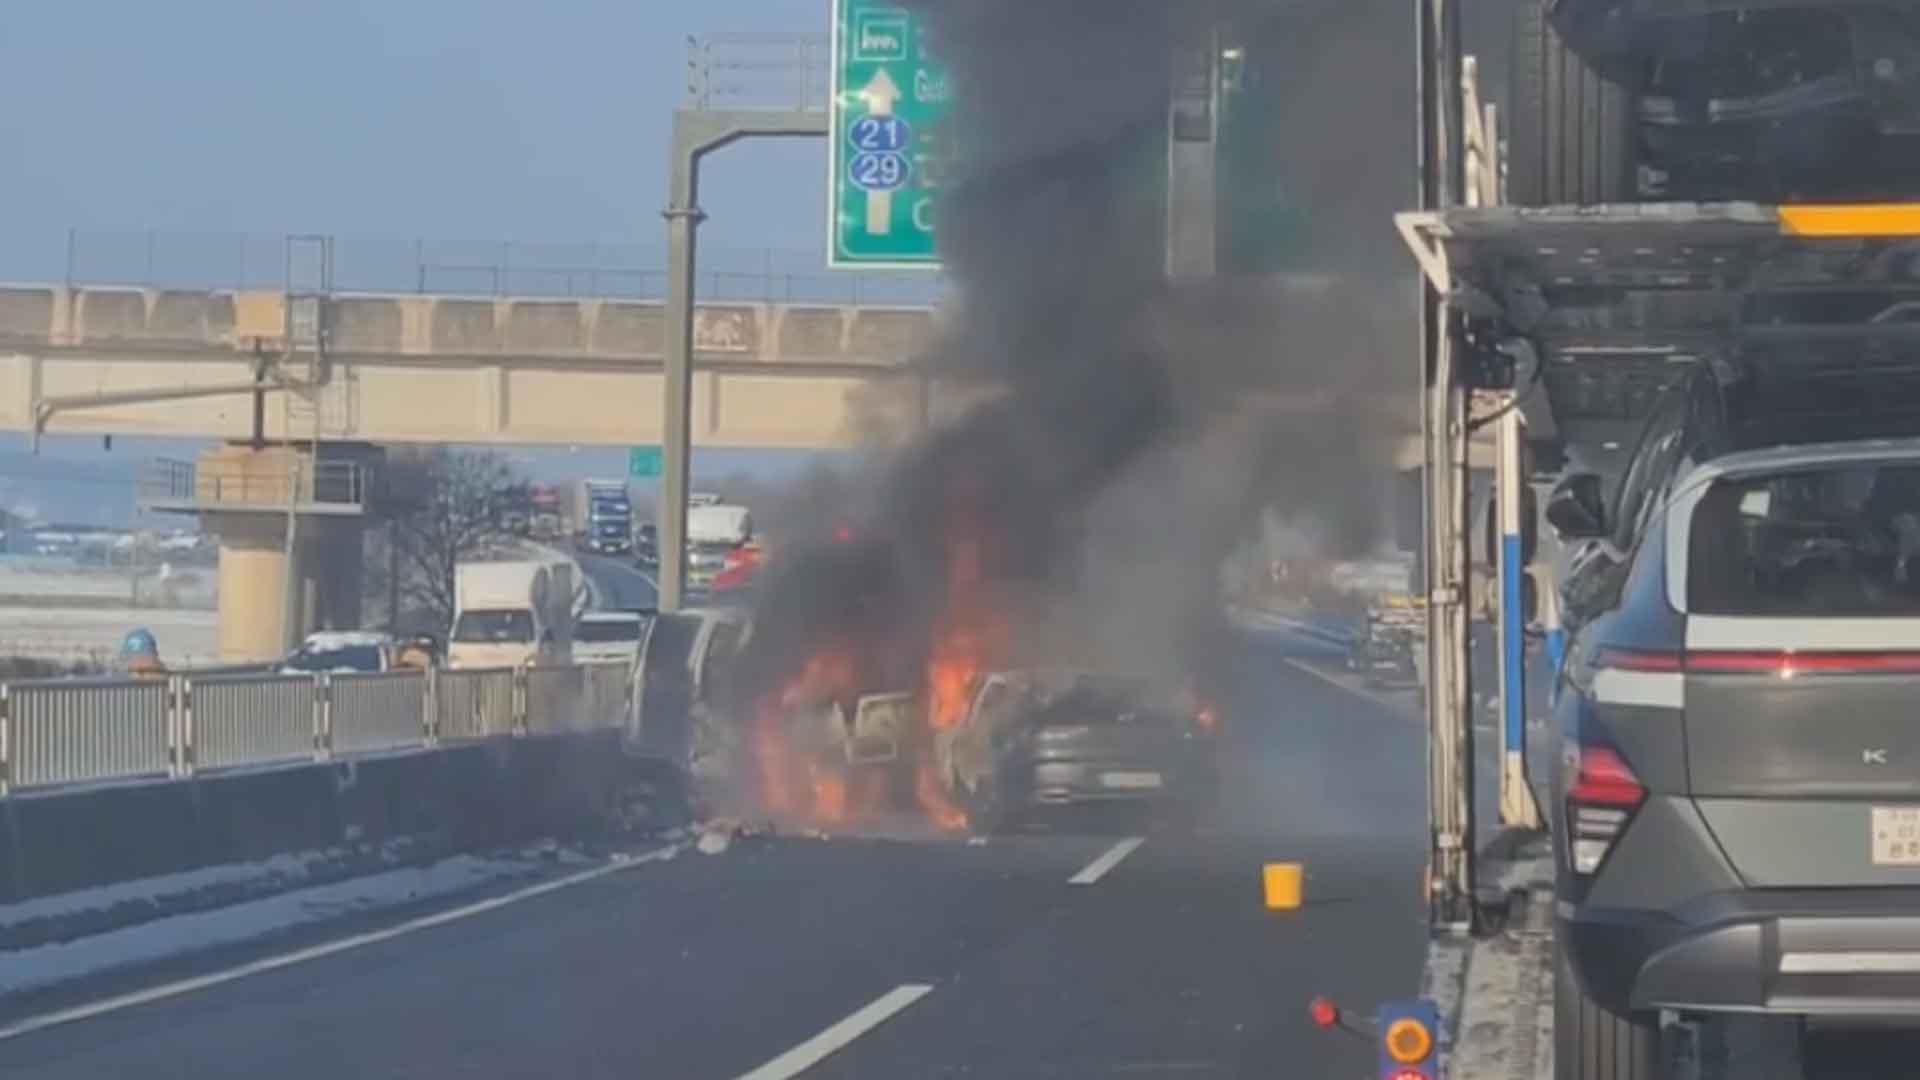
[[[626,723],[630,667],[0,682],[0,796]]]

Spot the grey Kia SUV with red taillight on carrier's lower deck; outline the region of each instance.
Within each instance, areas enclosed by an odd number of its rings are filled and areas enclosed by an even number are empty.
[[[1661,1011],[1920,1022],[1920,379],[1705,365],[1569,475],[1555,1068]]]

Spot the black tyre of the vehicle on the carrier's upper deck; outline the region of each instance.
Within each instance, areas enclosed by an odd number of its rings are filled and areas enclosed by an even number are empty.
[[[1548,23],[1548,0],[1513,8],[1507,86],[1507,202],[1594,206],[1632,202],[1634,96],[1601,79]]]

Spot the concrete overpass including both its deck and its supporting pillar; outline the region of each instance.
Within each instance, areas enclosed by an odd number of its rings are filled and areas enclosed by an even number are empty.
[[[993,394],[912,363],[943,315],[699,306],[693,442],[851,448],[939,425]],[[259,659],[359,625],[359,536],[382,492],[371,444],[662,442],[664,346],[664,306],[645,300],[13,284],[0,430],[225,440],[144,502],[219,536],[221,651]]]

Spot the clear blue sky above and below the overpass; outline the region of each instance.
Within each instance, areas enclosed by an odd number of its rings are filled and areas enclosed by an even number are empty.
[[[10,4],[0,279],[58,281],[69,229],[92,259],[125,256],[146,229],[179,236],[169,250],[180,252],[196,238],[284,233],[328,233],[342,250],[415,236],[657,248],[687,37],[826,29],[828,0]],[[799,252],[783,261],[793,269],[818,265],[808,256],[826,229],[824,154],[801,140],[712,158],[701,192],[708,269],[758,265],[747,252],[760,248]],[[117,490],[131,511],[140,457],[192,454],[52,438],[35,465],[25,448],[0,436],[13,477],[0,503],[84,517],[119,517]],[[622,457],[561,450],[524,461],[566,475]],[[793,455],[695,457],[714,477],[791,467]]]

